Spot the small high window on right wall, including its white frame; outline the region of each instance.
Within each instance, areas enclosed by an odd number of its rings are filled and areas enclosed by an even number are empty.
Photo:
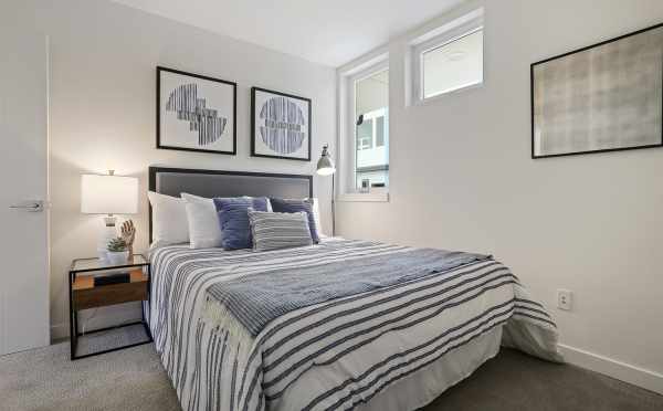
[[[413,40],[414,101],[483,83],[483,9]]]

